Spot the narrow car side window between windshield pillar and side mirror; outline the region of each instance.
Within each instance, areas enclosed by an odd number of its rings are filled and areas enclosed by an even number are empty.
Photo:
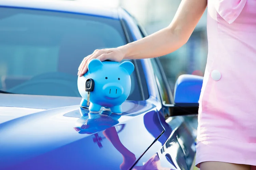
[[[159,88],[159,92],[160,92],[163,104],[172,104],[172,102],[170,100],[170,96],[168,94],[168,87],[166,86],[166,84],[165,84],[165,82],[162,78],[162,74],[161,74],[160,69],[157,65],[156,59],[152,58],[151,63],[152,63],[152,66],[153,66],[155,78],[156,78],[156,81],[157,81],[157,85],[158,85],[158,88]]]

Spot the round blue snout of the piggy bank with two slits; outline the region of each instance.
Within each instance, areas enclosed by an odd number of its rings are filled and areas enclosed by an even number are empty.
[[[115,99],[124,94],[124,88],[119,84],[109,83],[103,86],[103,92],[107,98]]]

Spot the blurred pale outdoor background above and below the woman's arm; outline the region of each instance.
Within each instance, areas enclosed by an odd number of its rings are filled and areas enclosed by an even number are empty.
[[[75,0],[93,6],[123,7],[144,27],[148,35],[167,27],[180,5],[181,0]],[[188,42],[179,50],[160,57],[168,81],[173,90],[181,74],[204,74],[208,44],[206,21],[207,10],[200,19]]]

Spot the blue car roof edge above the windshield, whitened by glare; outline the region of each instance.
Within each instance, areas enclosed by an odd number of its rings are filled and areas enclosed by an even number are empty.
[[[0,0],[0,6],[61,11],[119,19],[118,8],[91,6],[75,0]]]

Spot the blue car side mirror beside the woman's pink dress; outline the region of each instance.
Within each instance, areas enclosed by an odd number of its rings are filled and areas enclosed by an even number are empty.
[[[202,84],[202,76],[180,75],[174,87],[175,105],[198,105]]]

